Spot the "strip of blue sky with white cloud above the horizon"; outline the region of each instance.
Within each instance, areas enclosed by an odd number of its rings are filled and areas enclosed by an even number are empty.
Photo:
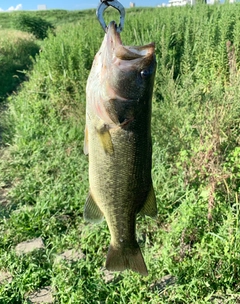
[[[129,3],[135,2],[136,6],[157,6],[167,0],[120,0],[119,2],[125,7]],[[36,10],[38,5],[45,4],[47,9],[66,9],[66,10],[83,10],[88,8],[97,8],[100,0],[0,0],[0,11],[13,10]]]

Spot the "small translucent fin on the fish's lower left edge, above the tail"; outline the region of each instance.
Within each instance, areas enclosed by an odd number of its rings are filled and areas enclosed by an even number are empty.
[[[87,222],[91,223],[100,223],[104,218],[102,211],[99,209],[90,192],[86,199],[83,216]]]

